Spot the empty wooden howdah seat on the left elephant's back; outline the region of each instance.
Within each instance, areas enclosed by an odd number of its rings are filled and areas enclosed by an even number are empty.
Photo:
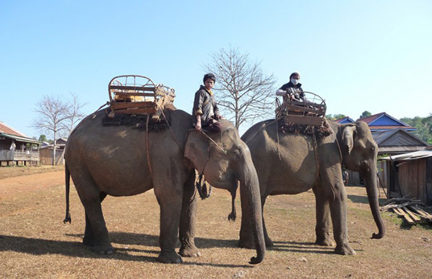
[[[155,84],[144,75],[119,75],[108,84],[110,117],[115,114],[147,114],[159,119],[176,97],[172,88]]]

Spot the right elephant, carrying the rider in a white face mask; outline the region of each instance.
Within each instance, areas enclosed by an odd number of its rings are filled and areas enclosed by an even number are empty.
[[[316,244],[334,246],[329,232],[331,216],[336,241],[334,252],[355,255],[348,243],[347,197],[342,170],[345,167],[360,172],[365,178],[369,206],[378,227],[378,234],[373,233],[372,238],[382,238],[385,225],[377,195],[378,146],[369,126],[363,121],[346,124],[325,122],[330,127],[330,135],[316,142],[316,153],[313,135],[281,133],[277,130],[280,124],[274,119],[256,123],[241,139],[249,146],[259,177],[262,210],[269,195],[295,195],[312,188],[316,199]],[[242,223],[238,245],[252,248],[247,200],[242,196],[240,199]],[[273,246],[264,220],[263,227],[266,246]]]

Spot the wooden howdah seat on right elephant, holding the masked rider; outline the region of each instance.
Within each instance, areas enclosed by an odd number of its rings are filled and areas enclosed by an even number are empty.
[[[286,124],[323,126],[327,105],[325,100],[312,92],[304,91],[307,101],[290,100],[287,96],[284,103],[277,104],[276,117],[283,119]],[[277,102],[279,99],[277,99]]]

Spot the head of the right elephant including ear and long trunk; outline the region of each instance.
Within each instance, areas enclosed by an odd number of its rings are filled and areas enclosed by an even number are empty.
[[[372,138],[367,123],[358,121],[341,126],[343,163],[347,169],[360,172],[365,179],[365,187],[373,219],[378,227],[378,234],[373,239],[380,239],[385,234],[385,226],[380,216],[378,205],[377,169],[376,160],[378,146]]]

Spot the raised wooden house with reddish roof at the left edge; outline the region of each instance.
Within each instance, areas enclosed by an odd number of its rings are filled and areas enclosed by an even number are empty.
[[[0,166],[39,165],[39,145],[0,121]]]

